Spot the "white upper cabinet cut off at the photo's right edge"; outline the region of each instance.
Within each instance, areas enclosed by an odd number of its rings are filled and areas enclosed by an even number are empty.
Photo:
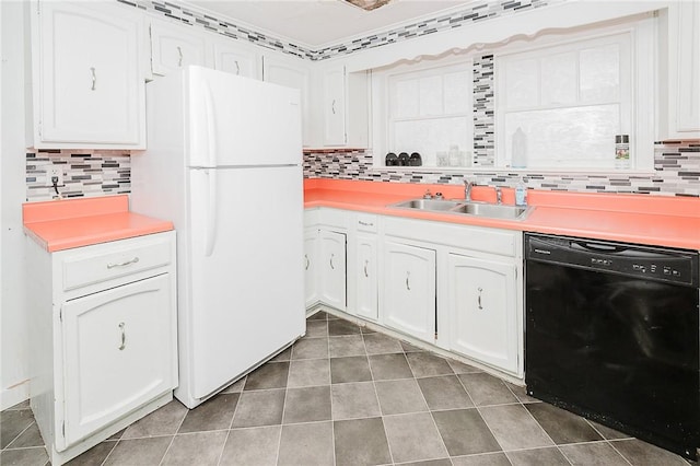
[[[660,85],[658,139],[700,138],[700,4],[673,2],[662,18],[667,43],[660,56],[668,61]]]

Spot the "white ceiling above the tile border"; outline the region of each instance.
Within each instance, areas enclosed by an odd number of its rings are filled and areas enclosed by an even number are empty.
[[[214,18],[312,49],[459,10],[474,0],[392,0],[365,11],[345,0],[188,0]]]

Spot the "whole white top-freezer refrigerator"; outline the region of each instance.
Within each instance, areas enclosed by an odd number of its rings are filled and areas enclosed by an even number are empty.
[[[179,386],[188,408],[305,333],[296,90],[201,67],[147,84],[131,210],[177,231]]]

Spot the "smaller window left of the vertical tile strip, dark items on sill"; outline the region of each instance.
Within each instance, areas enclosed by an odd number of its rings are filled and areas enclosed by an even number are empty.
[[[383,114],[375,115],[375,121],[386,125],[375,141],[375,147],[383,148],[378,165],[385,165],[388,152],[417,152],[428,167],[471,165],[471,60],[431,60],[375,70],[373,83],[375,95],[384,96],[375,105]]]

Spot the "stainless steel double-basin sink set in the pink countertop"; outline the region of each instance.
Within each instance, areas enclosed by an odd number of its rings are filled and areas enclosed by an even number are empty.
[[[389,207],[504,220],[523,220],[533,209],[532,207],[445,199],[411,199]]]

